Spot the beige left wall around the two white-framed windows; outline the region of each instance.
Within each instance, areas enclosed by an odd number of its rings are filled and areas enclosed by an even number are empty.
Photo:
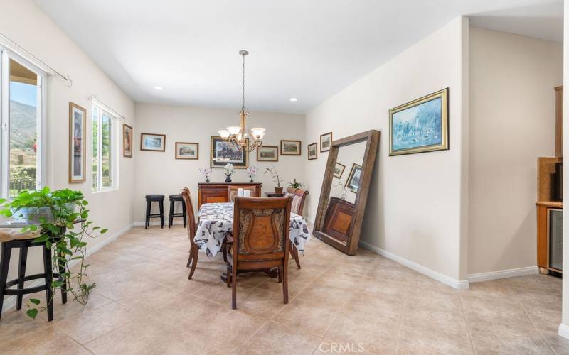
[[[87,182],[68,183],[68,130],[69,102],[85,107],[90,117],[91,105],[87,97],[97,94],[134,125],[134,102],[95,65],[83,51],[68,38],[41,9],[28,0],[4,0],[0,11],[0,33],[33,53],[44,62],[73,79],[73,87],[57,77],[48,77],[47,85],[47,184],[53,189],[68,187],[84,192],[90,202],[90,217],[97,225],[107,227],[108,234],[89,240],[93,248],[105,239],[128,228],[132,222],[132,192],[134,177],[133,159],[119,158],[120,188],[113,192],[92,194],[91,168],[87,163]],[[87,122],[89,120],[87,119]],[[87,124],[90,128],[90,124]],[[122,126],[122,124],[121,124]],[[91,159],[91,138],[87,135],[87,162]],[[120,144],[122,149],[122,143]],[[37,251],[28,256],[28,273],[37,272],[41,257]],[[11,263],[11,276],[15,275],[17,254]]]

